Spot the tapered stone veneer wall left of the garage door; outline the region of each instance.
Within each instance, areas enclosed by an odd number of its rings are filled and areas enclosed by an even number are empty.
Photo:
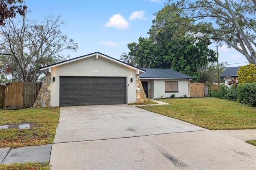
[[[51,73],[47,72],[33,107],[51,106]]]

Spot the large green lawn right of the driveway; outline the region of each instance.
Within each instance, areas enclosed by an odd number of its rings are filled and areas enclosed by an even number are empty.
[[[256,129],[256,108],[211,97],[159,99],[170,105],[138,106],[168,117],[173,117],[208,128]]]

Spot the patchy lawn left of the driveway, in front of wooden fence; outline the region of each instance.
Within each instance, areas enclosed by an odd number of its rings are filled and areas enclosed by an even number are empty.
[[[60,117],[59,107],[0,110],[0,148],[38,146],[53,143]],[[30,124],[30,129],[18,129],[20,124]]]

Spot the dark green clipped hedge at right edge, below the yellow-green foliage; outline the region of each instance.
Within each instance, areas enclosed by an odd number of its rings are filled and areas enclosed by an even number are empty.
[[[256,83],[238,84],[237,96],[240,103],[256,106]]]

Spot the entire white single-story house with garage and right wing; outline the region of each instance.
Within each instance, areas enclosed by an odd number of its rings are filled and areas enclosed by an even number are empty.
[[[188,95],[193,77],[171,69],[150,70],[99,52],[47,65],[40,68],[46,79],[34,107],[143,103],[147,98],[140,77],[144,86],[148,82],[150,99]]]

